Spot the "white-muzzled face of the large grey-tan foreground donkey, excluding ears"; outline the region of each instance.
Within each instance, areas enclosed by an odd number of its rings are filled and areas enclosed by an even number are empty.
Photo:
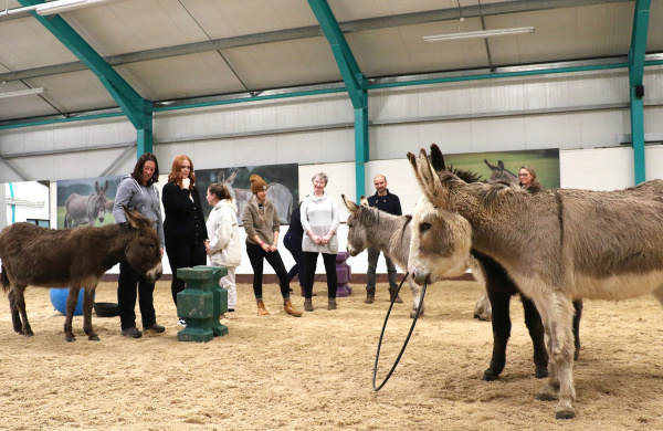
[[[472,227],[459,213],[420,197],[412,217],[408,271],[417,284],[462,275],[472,248]]]

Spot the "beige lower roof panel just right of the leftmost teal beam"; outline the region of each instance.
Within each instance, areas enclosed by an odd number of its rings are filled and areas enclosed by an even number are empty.
[[[149,101],[245,91],[217,51],[131,63],[116,70]]]

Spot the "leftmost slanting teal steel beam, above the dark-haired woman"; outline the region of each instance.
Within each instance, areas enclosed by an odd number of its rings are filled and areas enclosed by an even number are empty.
[[[24,7],[44,3],[41,0],[19,2]],[[150,129],[151,148],[151,102],[144,99],[60,14],[30,13],[99,78],[136,130]]]

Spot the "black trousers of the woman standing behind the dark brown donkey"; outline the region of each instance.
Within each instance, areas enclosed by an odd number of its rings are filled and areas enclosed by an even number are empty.
[[[138,284],[137,295],[136,284]],[[119,263],[117,305],[119,308],[119,322],[123,329],[136,326],[136,296],[138,296],[143,327],[148,327],[157,323],[154,292],[154,283],[148,283],[147,280],[136,272],[128,263]]]

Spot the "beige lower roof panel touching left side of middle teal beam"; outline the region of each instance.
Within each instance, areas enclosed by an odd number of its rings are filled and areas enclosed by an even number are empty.
[[[249,90],[340,81],[325,38],[224,50],[223,55]]]

